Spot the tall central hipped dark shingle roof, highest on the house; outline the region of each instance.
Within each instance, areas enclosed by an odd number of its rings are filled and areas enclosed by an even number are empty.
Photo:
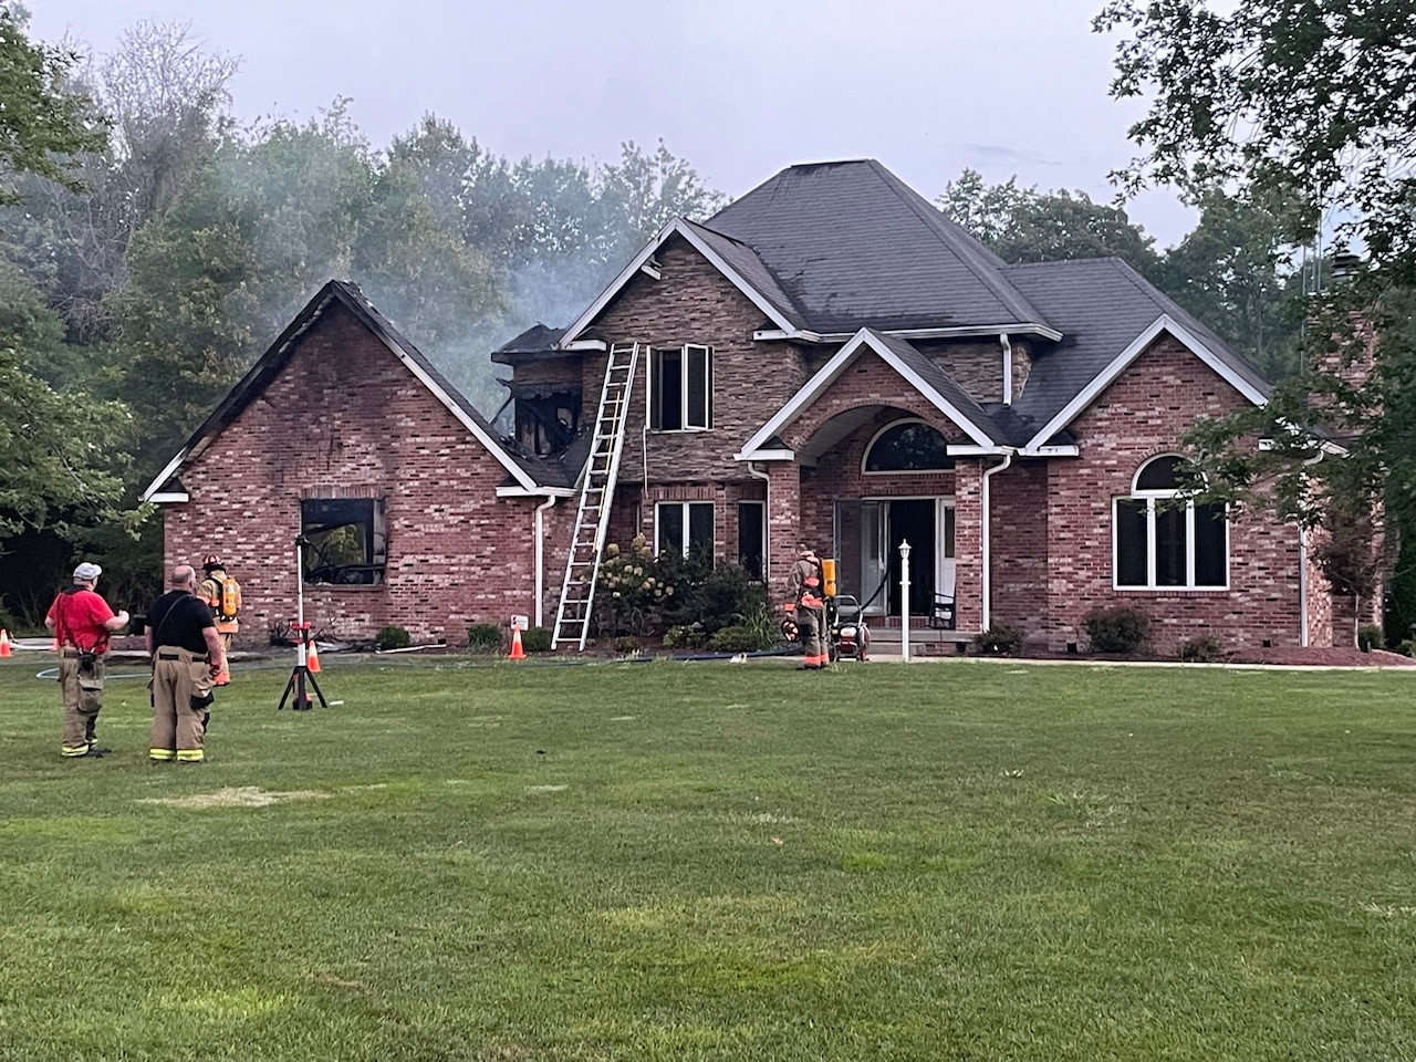
[[[874,159],[792,166],[705,228],[750,248],[814,331],[1048,324],[997,255]]]

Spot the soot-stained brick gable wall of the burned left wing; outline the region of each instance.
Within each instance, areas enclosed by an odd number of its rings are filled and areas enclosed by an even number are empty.
[[[164,507],[164,565],[221,554],[245,596],[239,640],[265,644],[296,612],[302,498],[382,498],[385,582],[306,585],[306,617],[336,637],[398,624],[416,640],[462,643],[470,623],[534,612],[541,500],[498,500],[506,479],[467,428],[331,303],[285,371],[181,470],[190,500]]]

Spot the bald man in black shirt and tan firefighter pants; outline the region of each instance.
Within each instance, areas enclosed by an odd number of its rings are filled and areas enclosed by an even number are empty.
[[[197,572],[173,568],[171,590],[147,609],[147,651],[153,654],[153,762],[201,763],[211,685],[225,667],[221,636],[207,603],[195,596]]]

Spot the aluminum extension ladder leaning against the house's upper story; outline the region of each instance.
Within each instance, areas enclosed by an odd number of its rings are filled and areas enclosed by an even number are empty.
[[[590,457],[585,463],[581,481],[581,507],[575,514],[571,552],[565,558],[565,582],[561,585],[561,606],[555,612],[551,649],[576,643],[583,650],[590,633],[590,607],[595,605],[595,581],[599,573],[600,551],[609,530],[610,504],[615,500],[615,480],[619,476],[620,452],[624,449],[624,423],[629,419],[630,391],[639,365],[639,344],[610,347],[605,367],[605,387],[600,389],[600,411],[595,418]]]

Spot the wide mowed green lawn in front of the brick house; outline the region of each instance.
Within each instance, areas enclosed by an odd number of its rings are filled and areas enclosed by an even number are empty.
[[[7,1061],[1416,1059],[1416,675],[330,658],[150,767],[40,657]]]

